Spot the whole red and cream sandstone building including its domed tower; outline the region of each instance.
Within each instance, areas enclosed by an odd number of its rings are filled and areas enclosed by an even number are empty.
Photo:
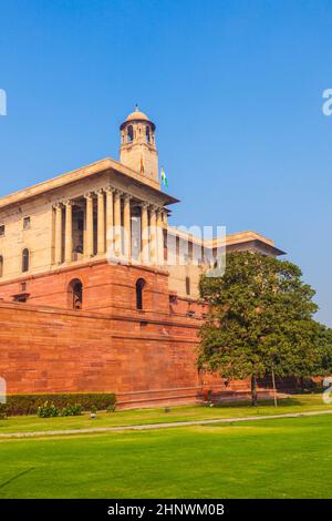
[[[280,255],[242,232],[205,239],[168,224],[155,124],[121,125],[101,160],[0,200],[0,376],[8,391],[115,391],[123,406],[190,401],[206,310],[197,283],[218,252]],[[241,386],[234,382],[228,392]]]

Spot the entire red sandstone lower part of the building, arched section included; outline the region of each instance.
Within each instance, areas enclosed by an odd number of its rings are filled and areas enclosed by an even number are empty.
[[[65,309],[73,278],[83,283],[82,311]],[[1,284],[0,297],[11,300],[21,282]],[[139,406],[189,402],[203,389],[225,397],[248,390],[247,381],[226,386],[217,375],[198,376],[205,309],[190,299],[169,302],[165,272],[94,262],[25,282],[28,304],[0,303],[0,376],[10,394],[114,391],[124,405]]]

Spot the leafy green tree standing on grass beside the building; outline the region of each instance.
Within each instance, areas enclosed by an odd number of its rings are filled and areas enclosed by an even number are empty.
[[[280,377],[313,376],[323,370],[323,354],[324,371],[331,370],[331,330],[312,318],[314,290],[301,277],[288,260],[234,252],[222,277],[200,278],[209,314],[200,329],[198,367],[227,379],[250,378],[253,406],[257,379],[272,370]]]

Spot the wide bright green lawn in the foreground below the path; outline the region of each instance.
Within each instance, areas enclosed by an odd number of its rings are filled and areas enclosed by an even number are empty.
[[[1,440],[0,498],[332,498],[331,432],[321,416]]]

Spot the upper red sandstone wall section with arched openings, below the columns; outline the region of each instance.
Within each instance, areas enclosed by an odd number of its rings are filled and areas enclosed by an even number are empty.
[[[29,304],[69,308],[69,286],[71,280],[79,278],[83,283],[83,309],[110,313],[117,308],[136,313],[135,284],[139,277],[146,280],[144,308],[168,314],[167,272],[142,266],[110,265],[105,260],[3,282],[0,284],[0,298],[12,300],[13,295],[22,292],[24,282],[24,293],[30,295]]]

